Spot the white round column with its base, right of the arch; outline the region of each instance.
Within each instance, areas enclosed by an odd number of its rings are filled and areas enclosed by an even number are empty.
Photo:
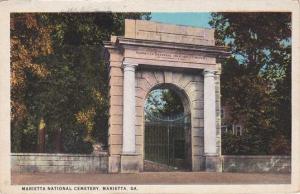
[[[217,153],[215,72],[204,70],[204,153],[206,171],[219,171]]]

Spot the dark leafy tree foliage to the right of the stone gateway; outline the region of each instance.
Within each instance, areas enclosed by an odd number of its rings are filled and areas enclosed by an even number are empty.
[[[210,24],[233,53],[222,62],[222,104],[247,129],[223,136],[223,153],[290,153],[291,14],[213,13]]]

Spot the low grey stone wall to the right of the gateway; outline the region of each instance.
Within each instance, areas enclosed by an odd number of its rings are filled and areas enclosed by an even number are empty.
[[[222,156],[223,172],[291,172],[290,156]]]

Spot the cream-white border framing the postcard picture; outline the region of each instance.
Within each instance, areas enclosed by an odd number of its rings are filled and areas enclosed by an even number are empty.
[[[19,0],[0,2],[0,193],[22,192],[10,184],[10,13],[11,12],[292,12],[292,183],[262,185],[137,185],[130,193],[300,192],[300,3],[299,0]],[[298,101],[298,102],[297,102]],[[58,192],[55,193],[70,193]],[[72,193],[100,193],[72,191]],[[105,192],[108,193],[108,192]],[[112,193],[125,193],[117,191]],[[126,192],[127,193],[127,192]]]

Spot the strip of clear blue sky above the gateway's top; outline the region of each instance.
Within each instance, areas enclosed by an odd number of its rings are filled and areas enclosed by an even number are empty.
[[[210,18],[211,17],[209,12],[151,13],[152,21],[202,28],[211,28],[208,24]]]

